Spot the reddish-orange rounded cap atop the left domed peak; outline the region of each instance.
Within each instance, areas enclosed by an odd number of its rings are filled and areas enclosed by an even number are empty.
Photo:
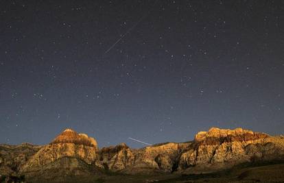
[[[71,129],[64,130],[57,136],[51,144],[58,143],[73,143],[76,145],[86,145],[97,149],[97,141],[94,138],[88,137],[86,134],[78,134]]]

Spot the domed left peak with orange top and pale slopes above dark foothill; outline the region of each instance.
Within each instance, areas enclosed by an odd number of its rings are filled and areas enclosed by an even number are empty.
[[[97,151],[97,142],[94,138],[67,129],[34,154],[21,171],[23,173],[39,171],[43,166],[64,157],[78,158],[87,164],[95,164]]]

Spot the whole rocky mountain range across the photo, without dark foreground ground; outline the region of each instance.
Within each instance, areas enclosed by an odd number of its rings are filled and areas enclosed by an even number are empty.
[[[283,136],[241,128],[213,127],[199,132],[188,143],[163,143],[141,149],[130,149],[124,143],[99,149],[94,138],[69,129],[45,146],[0,145],[0,174],[20,173],[29,178],[56,177],[62,172],[93,175],[106,169],[124,173],[196,173],[270,160],[284,160]]]

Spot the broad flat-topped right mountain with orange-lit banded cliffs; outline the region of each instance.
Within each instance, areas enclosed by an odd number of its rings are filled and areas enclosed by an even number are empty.
[[[180,156],[178,169],[212,171],[251,162],[255,157],[261,160],[284,158],[283,147],[284,141],[279,137],[241,128],[212,127],[208,132],[196,134],[191,149]]]

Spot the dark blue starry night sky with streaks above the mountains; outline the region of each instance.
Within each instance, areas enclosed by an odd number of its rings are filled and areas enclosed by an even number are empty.
[[[283,134],[284,1],[0,1],[0,143]]]

